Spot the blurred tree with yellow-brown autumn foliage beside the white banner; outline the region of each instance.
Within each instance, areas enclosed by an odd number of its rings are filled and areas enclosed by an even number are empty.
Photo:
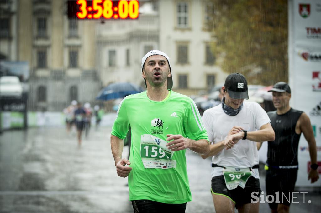
[[[212,51],[250,84],[288,81],[287,0],[211,0]]]

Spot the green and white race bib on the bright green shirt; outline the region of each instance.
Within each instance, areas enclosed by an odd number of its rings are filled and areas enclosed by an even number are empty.
[[[141,136],[140,154],[145,168],[170,169],[176,167],[174,154],[166,147],[167,141],[149,134]]]

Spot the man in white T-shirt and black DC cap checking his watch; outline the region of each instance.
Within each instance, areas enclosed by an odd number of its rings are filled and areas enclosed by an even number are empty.
[[[203,123],[212,142],[212,196],[217,213],[259,212],[251,193],[261,193],[256,142],[273,141],[274,131],[264,109],[248,99],[244,75],[230,74],[222,87],[222,103],[203,114]]]

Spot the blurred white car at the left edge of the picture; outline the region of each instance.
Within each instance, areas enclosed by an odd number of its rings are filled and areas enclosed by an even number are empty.
[[[22,98],[22,84],[17,76],[0,77],[0,97]]]

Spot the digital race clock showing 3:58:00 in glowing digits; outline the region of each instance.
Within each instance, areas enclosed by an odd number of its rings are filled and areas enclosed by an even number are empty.
[[[137,19],[137,0],[68,0],[68,18],[76,19]]]

